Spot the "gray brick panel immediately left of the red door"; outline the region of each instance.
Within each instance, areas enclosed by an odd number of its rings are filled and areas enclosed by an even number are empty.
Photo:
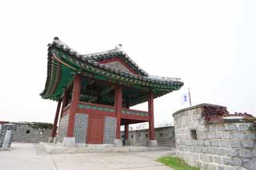
[[[76,113],[74,117],[74,137],[75,143],[85,144],[88,127],[88,115]]]

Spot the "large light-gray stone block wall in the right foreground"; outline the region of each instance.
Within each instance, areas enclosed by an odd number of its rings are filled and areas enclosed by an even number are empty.
[[[201,169],[256,169],[254,123],[241,119],[205,121],[206,105],[174,113],[176,155]]]

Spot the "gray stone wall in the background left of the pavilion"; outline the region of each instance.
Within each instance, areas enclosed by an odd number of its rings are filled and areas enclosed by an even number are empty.
[[[14,142],[46,142],[52,129],[52,126],[41,127],[40,123],[14,123],[14,125],[16,125],[13,137]]]

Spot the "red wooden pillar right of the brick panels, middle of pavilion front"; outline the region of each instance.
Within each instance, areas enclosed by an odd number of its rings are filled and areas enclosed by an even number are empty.
[[[117,118],[115,138],[120,139],[121,113],[122,113],[122,88],[117,86],[115,89],[114,101],[115,113]]]

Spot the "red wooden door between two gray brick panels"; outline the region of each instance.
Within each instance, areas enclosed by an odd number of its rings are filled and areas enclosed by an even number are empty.
[[[103,117],[89,116],[89,126],[87,132],[87,144],[103,143],[104,119]]]

